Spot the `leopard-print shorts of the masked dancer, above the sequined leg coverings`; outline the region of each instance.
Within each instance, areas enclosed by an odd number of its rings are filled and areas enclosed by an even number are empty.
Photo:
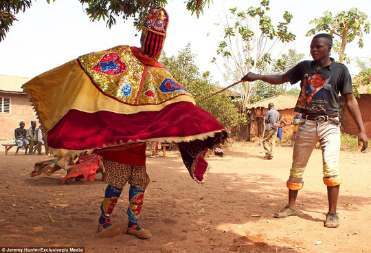
[[[115,188],[122,189],[128,182],[139,190],[146,190],[150,178],[146,172],[146,166],[120,164],[109,159],[103,159],[106,170],[106,182]]]

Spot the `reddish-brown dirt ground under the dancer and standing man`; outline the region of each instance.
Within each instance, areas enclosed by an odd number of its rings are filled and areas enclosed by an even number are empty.
[[[273,218],[287,201],[292,148],[264,160],[261,146],[234,142],[212,155],[204,185],[188,174],[177,151],[148,158],[140,223],[147,240],[120,234],[127,221],[128,187],[111,221],[117,236],[97,232],[106,184],[98,179],[59,185],[64,171],[30,177],[46,155],[0,152],[0,246],[85,247],[85,252],[371,252],[371,153],[341,152],[339,228],[324,228],[328,211],[322,154],[316,149],[297,199],[297,216]],[[148,152],[149,155],[149,152]]]

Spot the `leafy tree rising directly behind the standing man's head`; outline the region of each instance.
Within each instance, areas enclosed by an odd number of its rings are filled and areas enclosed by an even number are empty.
[[[315,24],[315,28],[309,30],[306,36],[311,36],[316,32],[328,32],[332,36],[337,36],[339,41],[333,41],[333,51],[339,54],[339,63],[350,62],[350,59],[345,54],[346,44],[351,43],[356,38],[359,48],[363,47],[363,32],[370,32],[370,21],[366,13],[352,8],[350,11],[340,12],[333,17],[331,12],[324,12],[324,17],[313,19],[309,22]]]

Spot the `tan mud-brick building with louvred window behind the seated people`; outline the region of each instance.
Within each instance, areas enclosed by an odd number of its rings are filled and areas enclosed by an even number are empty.
[[[28,80],[31,78],[0,75],[0,139],[13,138],[19,122],[24,121],[27,129],[31,120],[36,120],[32,103],[21,88]]]

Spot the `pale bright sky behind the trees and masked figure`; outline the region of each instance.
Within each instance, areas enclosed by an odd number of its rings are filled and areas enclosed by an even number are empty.
[[[246,10],[251,5],[257,7],[260,1],[214,0],[210,8],[205,8],[199,19],[190,16],[183,1],[168,0],[168,3],[166,10],[169,12],[170,23],[164,46],[167,56],[177,54],[191,43],[192,52],[197,55],[196,65],[201,71],[209,70],[214,81],[218,81],[222,86],[229,85],[223,82],[221,64],[219,63],[218,68],[211,63],[212,58],[216,56],[218,44],[223,39],[221,26],[214,23],[224,20],[228,8],[238,7],[238,10]],[[273,0],[270,7],[269,14],[273,23],[282,19],[285,10],[293,14],[290,29],[297,36],[293,43],[285,47],[280,45],[276,51],[286,52],[289,48],[295,48],[297,52],[304,53],[306,59],[311,59],[311,38],[305,37],[305,34],[313,28],[308,22],[322,17],[326,10],[335,15],[355,7],[366,12],[371,19],[369,0]],[[131,20],[124,23],[119,17],[117,25],[110,30],[106,28],[104,21],[91,22],[78,0],[56,0],[49,5],[46,0],[33,1],[32,8],[18,14],[17,19],[19,21],[14,22],[7,37],[0,43],[0,74],[3,75],[34,77],[89,52],[106,50],[115,45],[139,47],[140,32],[134,30]],[[365,47],[362,50],[356,43],[347,45],[346,52],[350,58],[371,58],[368,50],[371,47],[371,35],[365,34],[363,41]],[[359,72],[355,65],[350,64],[348,68],[353,75]]]

